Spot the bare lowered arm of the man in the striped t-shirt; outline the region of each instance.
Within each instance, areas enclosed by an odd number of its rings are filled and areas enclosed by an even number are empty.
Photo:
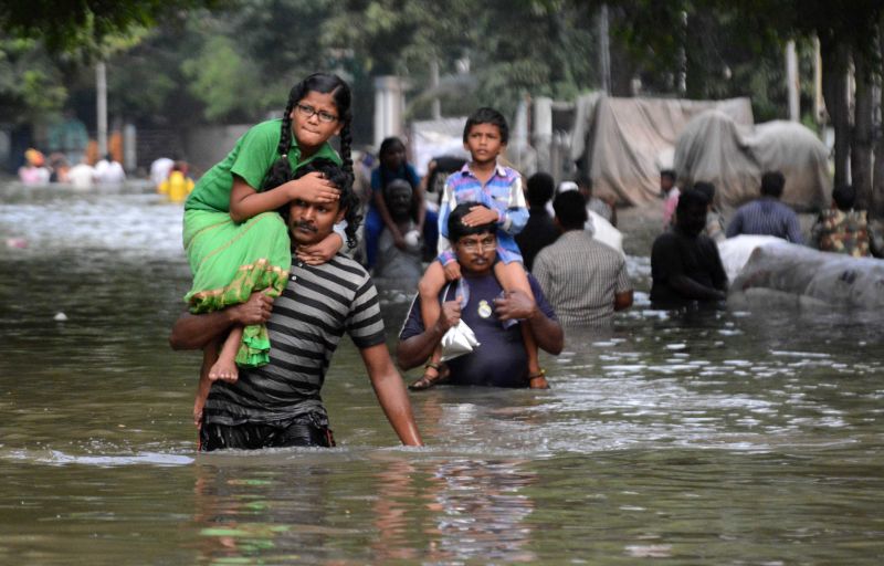
[[[371,379],[371,387],[378,396],[387,420],[399,436],[399,440],[409,447],[421,447],[421,433],[411,412],[411,402],[402,382],[402,376],[393,367],[386,344],[378,344],[359,350]]]

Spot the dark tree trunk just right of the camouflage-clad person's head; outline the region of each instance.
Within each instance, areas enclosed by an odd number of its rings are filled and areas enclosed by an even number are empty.
[[[872,113],[874,105],[872,103],[872,69],[866,56],[859,51],[853,54],[856,94],[850,170],[853,188],[856,190],[854,206],[857,210],[869,209],[872,203]]]

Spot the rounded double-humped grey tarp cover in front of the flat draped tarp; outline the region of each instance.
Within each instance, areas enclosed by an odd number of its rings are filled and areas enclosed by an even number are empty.
[[[782,201],[798,210],[824,208],[832,191],[825,146],[794,122],[747,126],[705,112],[678,136],[674,165],[682,186],[715,185],[716,205],[726,210],[758,198],[765,171],[783,174]]]

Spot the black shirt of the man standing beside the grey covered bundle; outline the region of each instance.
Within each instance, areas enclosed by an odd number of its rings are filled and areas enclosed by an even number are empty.
[[[660,234],[651,249],[651,301],[660,306],[703,301],[703,297],[682,295],[672,286],[672,280],[678,275],[722,292],[727,289],[718,245],[705,234],[691,238],[676,229]]]

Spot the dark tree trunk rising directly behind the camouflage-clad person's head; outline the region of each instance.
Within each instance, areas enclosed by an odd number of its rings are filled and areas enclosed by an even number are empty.
[[[820,38],[822,59],[822,97],[825,112],[835,130],[835,179],[834,184],[849,182],[850,163],[850,108],[848,101],[848,49],[829,38]]]

